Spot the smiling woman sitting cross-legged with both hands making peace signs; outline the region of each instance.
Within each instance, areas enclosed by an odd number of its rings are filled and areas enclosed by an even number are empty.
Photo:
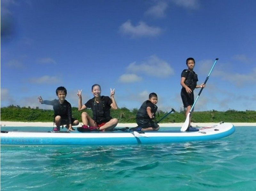
[[[82,113],[83,126],[78,127],[78,131],[112,131],[118,123],[117,118],[110,116],[110,109],[117,109],[114,98],[115,89],[110,88],[110,97],[100,96],[101,88],[99,84],[92,85],[93,98],[82,105],[82,90],[78,90],[78,111],[86,108],[92,108],[93,117],[87,112]]]

